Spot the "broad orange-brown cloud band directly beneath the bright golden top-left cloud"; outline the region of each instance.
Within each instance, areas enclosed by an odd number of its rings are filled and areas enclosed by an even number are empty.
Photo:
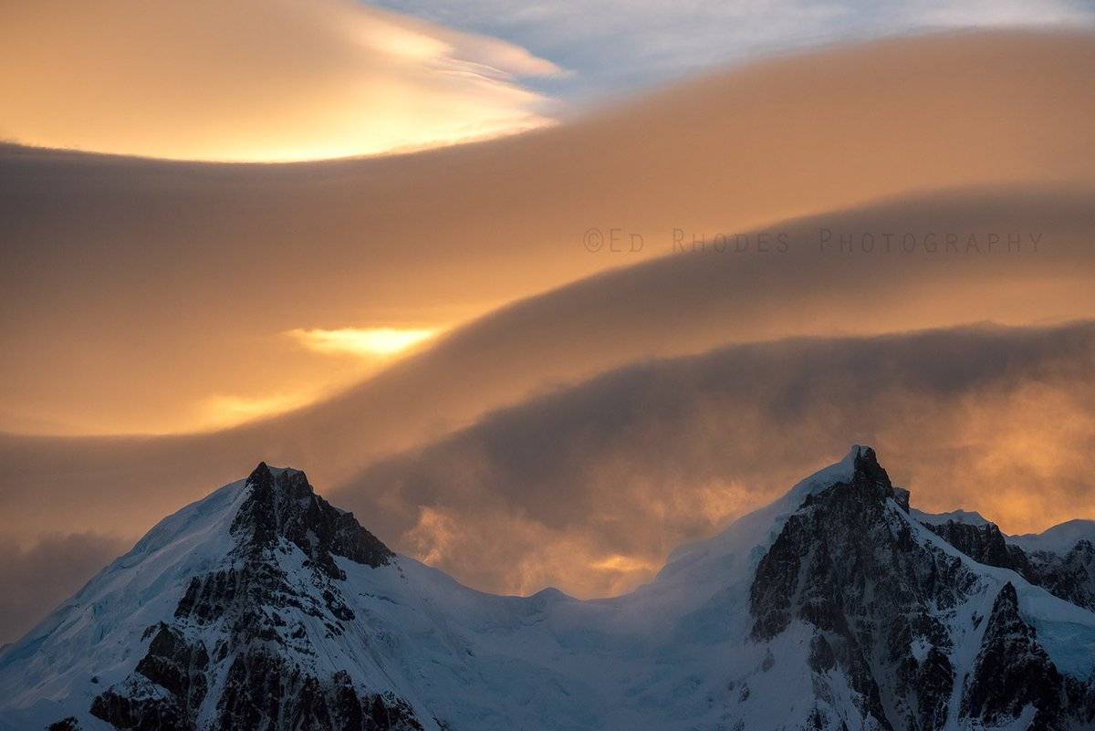
[[[364,378],[362,360],[301,348],[286,330],[452,326],[673,254],[675,229],[691,242],[914,192],[947,204],[946,192],[971,186],[1059,184],[1060,199],[1074,199],[1095,187],[1093,38],[983,34],[834,49],[534,135],[414,155],[215,165],[0,148],[0,429],[184,431],[208,426],[212,395],[331,393]],[[937,220],[933,205],[892,224],[967,225],[946,211]],[[1008,225],[1054,225],[1037,216]],[[638,233],[645,247],[589,251],[590,229]],[[780,280],[808,264],[774,256],[765,266]],[[730,252],[713,271],[736,278],[754,259]],[[1082,297],[1067,306],[1049,290],[1034,298],[1037,316],[1090,312]],[[958,321],[910,313],[902,325],[1016,322],[1025,298],[975,303]],[[1045,312],[1050,304],[1067,312]],[[611,301],[588,306],[591,326],[618,316]],[[656,311],[654,322],[671,314]],[[752,322],[753,337],[787,334]],[[558,359],[541,353],[525,368],[531,375]]]

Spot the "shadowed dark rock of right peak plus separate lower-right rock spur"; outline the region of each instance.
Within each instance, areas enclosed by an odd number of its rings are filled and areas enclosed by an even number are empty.
[[[753,636],[771,639],[793,619],[816,627],[811,666],[822,673],[842,668],[880,728],[945,728],[956,697],[958,723],[950,728],[1010,723],[1029,716],[1028,709],[1034,715],[1021,728],[1088,723],[1095,688],[1087,678],[1060,674],[1023,618],[1011,582],[987,616],[969,618],[973,627],[955,626],[954,617],[980,591],[978,572],[961,556],[914,539],[910,523],[892,510],[908,512],[907,500],[873,450],[856,457],[851,480],[809,496],[757,568]],[[968,537],[948,525],[954,537]],[[952,545],[970,548],[967,557],[998,558],[981,550],[999,535],[992,529],[975,529],[990,536],[984,543]],[[999,547],[1001,555],[1025,560],[1022,549],[1003,541]],[[973,666],[956,672],[963,631],[982,622]]]

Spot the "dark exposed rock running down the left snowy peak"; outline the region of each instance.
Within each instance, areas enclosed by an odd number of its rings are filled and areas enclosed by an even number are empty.
[[[394,554],[353,513],[316,496],[301,472],[275,475],[260,464],[245,489],[231,526],[231,564],[189,582],[172,625],[146,631],[147,654],[94,699],[92,713],[116,729],[194,731],[203,704],[214,703],[219,731],[420,731],[402,698],[368,693],[344,672],[319,677],[290,659],[315,654],[295,617],[319,619],[324,639],[342,635],[343,623],[355,618],[334,557],[378,568]],[[292,547],[307,557],[303,585],[279,561]],[[215,647],[188,639],[207,628]],[[207,700],[217,668],[221,691]]]

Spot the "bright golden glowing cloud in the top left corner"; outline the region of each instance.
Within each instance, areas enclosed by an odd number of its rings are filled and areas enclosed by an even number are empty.
[[[71,0],[0,10],[0,139],[154,158],[300,160],[543,125],[518,46],[351,0]]]

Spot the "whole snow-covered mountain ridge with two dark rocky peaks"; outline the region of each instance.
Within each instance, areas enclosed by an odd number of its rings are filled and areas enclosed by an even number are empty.
[[[0,730],[1095,728],[1095,529],[909,499],[856,446],[584,602],[464,588],[260,464],[0,651]]]

